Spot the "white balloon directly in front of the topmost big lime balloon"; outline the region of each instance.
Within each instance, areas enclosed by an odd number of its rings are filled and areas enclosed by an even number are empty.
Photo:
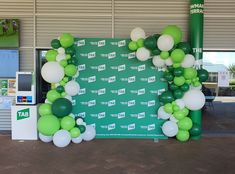
[[[158,38],[157,46],[161,51],[169,51],[174,46],[174,39],[170,35],[163,34]]]

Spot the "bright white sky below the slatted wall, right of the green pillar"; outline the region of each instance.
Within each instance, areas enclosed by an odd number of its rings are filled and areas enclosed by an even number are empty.
[[[226,67],[235,65],[235,52],[204,52],[203,62],[223,64]]]

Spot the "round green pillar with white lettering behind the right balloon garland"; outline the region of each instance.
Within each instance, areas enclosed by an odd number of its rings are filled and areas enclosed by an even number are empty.
[[[193,55],[196,59],[196,68],[202,68],[203,57],[203,26],[204,26],[204,0],[190,0],[190,19],[189,19],[189,39]],[[193,124],[202,126],[201,110],[191,111],[190,116]],[[201,135],[191,136],[191,139],[198,140]]]

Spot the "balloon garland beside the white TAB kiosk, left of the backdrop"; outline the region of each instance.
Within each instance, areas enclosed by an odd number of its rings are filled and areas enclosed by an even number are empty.
[[[53,39],[51,46],[53,49],[47,51],[47,62],[41,69],[43,79],[51,83],[51,90],[45,103],[39,106],[39,138],[46,143],[53,141],[57,147],[66,147],[71,141],[76,144],[90,141],[95,138],[95,128],[71,113],[72,96],[80,90],[75,81],[79,71],[74,37],[64,33],[59,39]]]

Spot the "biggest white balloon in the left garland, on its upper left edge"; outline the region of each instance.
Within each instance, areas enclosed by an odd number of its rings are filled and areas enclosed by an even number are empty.
[[[64,77],[64,68],[58,62],[47,62],[41,69],[41,75],[48,83],[58,83]]]

